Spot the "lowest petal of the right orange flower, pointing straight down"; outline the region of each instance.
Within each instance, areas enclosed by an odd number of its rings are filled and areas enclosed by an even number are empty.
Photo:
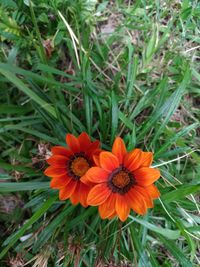
[[[127,204],[126,198],[124,195],[116,194],[116,212],[119,216],[119,219],[124,222],[129,213],[130,213],[130,206]]]

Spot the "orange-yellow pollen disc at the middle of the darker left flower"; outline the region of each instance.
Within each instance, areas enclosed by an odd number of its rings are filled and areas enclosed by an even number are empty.
[[[71,170],[76,176],[83,176],[90,168],[88,161],[83,157],[75,158],[71,163]]]

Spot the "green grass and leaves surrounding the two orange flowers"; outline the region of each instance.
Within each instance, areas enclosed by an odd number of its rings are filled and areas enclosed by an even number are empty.
[[[1,266],[199,266],[198,1],[39,2],[0,4]],[[49,189],[48,150],[82,131],[154,152],[147,215],[103,221]]]

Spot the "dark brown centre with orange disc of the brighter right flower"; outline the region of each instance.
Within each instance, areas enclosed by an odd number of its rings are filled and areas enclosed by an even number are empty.
[[[113,193],[123,195],[135,184],[134,176],[123,165],[115,169],[109,176],[108,187]]]

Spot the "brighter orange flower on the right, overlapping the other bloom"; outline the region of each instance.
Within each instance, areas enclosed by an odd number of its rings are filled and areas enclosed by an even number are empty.
[[[118,215],[125,221],[130,209],[144,215],[153,207],[153,199],[160,196],[153,185],[160,172],[150,168],[152,160],[151,152],[127,152],[123,140],[117,137],[112,153],[101,152],[98,166],[90,168],[81,179],[86,184],[96,183],[89,192],[88,205],[99,206],[102,219]]]

